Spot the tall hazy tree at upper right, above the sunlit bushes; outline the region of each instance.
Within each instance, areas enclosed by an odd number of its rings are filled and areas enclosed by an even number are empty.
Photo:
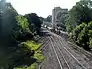
[[[91,0],[81,0],[73,6],[66,19],[66,29],[68,32],[72,32],[72,29],[74,29],[76,25],[82,24],[82,22],[88,24],[88,22],[92,21],[91,7]]]

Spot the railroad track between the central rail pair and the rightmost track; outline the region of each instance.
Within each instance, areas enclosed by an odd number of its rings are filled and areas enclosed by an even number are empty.
[[[52,40],[54,41],[54,43],[56,42],[56,45],[57,44],[61,44],[61,42],[56,39],[53,39]],[[87,69],[85,66],[82,65],[82,63],[80,63],[76,57],[74,57],[65,47],[63,47],[62,45],[64,44],[61,44],[61,45],[57,45],[55,47],[55,49],[57,48],[57,52],[59,53],[62,53],[60,56],[63,56],[63,59],[64,61],[66,62],[67,64],[67,67],[68,69]],[[62,46],[62,47],[61,47]],[[62,66],[63,67],[63,66]]]

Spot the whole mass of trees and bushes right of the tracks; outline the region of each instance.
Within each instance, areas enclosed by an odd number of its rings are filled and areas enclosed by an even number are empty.
[[[76,44],[92,49],[92,1],[80,0],[68,12],[66,29]]]

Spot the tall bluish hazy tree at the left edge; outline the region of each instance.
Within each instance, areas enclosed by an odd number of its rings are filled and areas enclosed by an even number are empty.
[[[0,42],[9,44],[12,42],[13,32],[17,30],[16,16],[18,13],[10,3],[0,1]],[[5,43],[6,42],[6,43]]]

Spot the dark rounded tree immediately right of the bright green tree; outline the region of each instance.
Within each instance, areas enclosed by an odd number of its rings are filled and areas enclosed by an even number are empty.
[[[33,32],[37,32],[37,34],[39,34],[40,32],[40,28],[41,28],[41,20],[40,18],[37,16],[37,14],[35,13],[31,13],[31,14],[26,14],[25,17],[27,17],[29,25],[30,25],[30,29],[33,29]]]

